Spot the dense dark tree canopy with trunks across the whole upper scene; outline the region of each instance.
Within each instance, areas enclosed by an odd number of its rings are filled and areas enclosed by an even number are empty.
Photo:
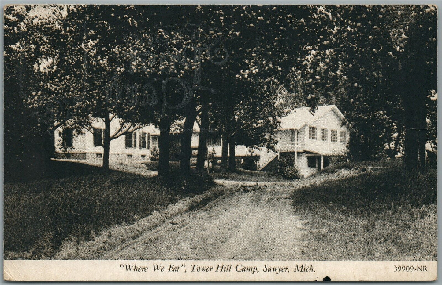
[[[196,120],[197,167],[216,133],[226,168],[228,143],[272,148],[287,109],[322,104],[346,116],[353,159],[404,153],[406,169],[423,169],[427,142],[437,146],[432,6],[16,5],[4,31],[5,142],[33,134],[46,157],[55,128],[100,118],[107,169],[110,140],[152,123],[167,176],[180,120],[186,173]]]

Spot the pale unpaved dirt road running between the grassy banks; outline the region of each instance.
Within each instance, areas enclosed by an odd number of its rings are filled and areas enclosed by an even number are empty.
[[[247,192],[176,217],[103,259],[297,259],[305,230],[291,210],[290,188],[245,187]]]

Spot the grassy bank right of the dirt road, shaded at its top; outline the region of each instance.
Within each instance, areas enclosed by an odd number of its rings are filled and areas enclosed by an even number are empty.
[[[339,168],[334,166],[335,168]],[[437,170],[410,177],[400,161],[293,192],[316,260],[437,260]]]

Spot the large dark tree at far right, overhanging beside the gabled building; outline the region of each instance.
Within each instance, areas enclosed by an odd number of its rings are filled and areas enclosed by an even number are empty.
[[[299,80],[311,98],[316,90],[320,100],[343,106],[355,145],[368,150],[362,159],[393,140],[397,148],[397,136],[405,133],[404,167],[423,170],[425,102],[436,82],[434,11],[425,5],[319,6],[306,19],[318,27],[312,33],[317,41],[304,47]],[[333,98],[339,88],[345,91]]]

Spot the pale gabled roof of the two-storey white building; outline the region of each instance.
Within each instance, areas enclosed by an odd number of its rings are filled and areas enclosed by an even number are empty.
[[[312,114],[309,107],[298,108],[291,111],[287,116],[281,118],[280,130],[299,130],[305,124],[311,124],[333,110],[339,119],[344,120],[344,115],[339,111],[336,105],[318,106],[318,109]]]

